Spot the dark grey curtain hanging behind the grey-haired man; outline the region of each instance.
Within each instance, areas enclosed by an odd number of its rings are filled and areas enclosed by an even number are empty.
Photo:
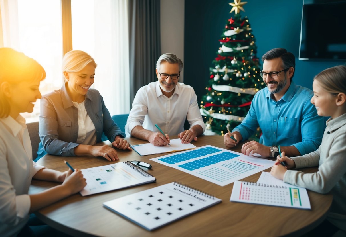
[[[160,0],[129,0],[130,108],[138,89],[157,80],[161,56]]]

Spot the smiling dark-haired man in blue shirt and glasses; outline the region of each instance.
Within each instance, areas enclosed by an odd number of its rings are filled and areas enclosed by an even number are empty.
[[[243,154],[276,158],[278,145],[288,157],[316,151],[322,141],[323,117],[310,103],[313,92],[292,81],[294,55],[275,48],[265,53],[262,61],[260,75],[267,87],[256,93],[243,122],[224,136],[224,143],[231,148],[247,140],[259,126],[263,133],[260,142],[245,143]]]

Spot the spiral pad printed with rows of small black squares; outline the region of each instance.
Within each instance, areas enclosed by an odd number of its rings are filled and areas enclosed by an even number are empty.
[[[172,182],[103,203],[103,206],[154,230],[221,202],[221,199]]]

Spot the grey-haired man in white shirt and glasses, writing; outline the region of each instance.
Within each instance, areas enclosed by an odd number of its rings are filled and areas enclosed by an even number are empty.
[[[204,132],[193,88],[178,82],[182,68],[182,61],[174,54],[160,56],[156,63],[158,80],[140,88],[133,101],[125,126],[129,135],[164,146],[170,143],[168,135],[179,135],[182,143],[190,143]],[[185,118],[190,123],[188,130],[184,130]]]

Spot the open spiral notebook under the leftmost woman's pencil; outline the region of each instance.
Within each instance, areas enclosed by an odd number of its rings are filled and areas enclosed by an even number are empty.
[[[82,196],[156,182],[155,177],[129,161],[81,171],[87,183],[80,191]]]

